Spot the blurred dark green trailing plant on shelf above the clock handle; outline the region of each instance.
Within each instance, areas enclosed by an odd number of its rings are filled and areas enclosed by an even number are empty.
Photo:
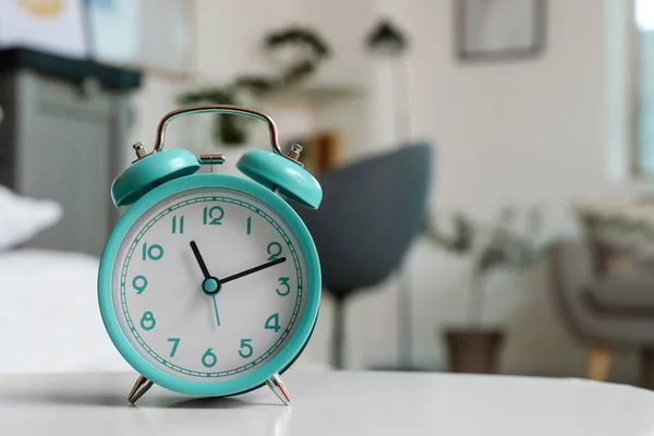
[[[182,105],[213,104],[239,105],[243,95],[261,98],[272,92],[295,86],[313,74],[325,58],[329,48],[312,29],[289,27],[275,32],[264,38],[264,48],[268,51],[283,47],[296,48],[296,59],[271,76],[240,75],[223,86],[203,87],[183,94]],[[247,119],[234,116],[216,117],[213,135],[216,142],[225,145],[239,145],[247,140]]]

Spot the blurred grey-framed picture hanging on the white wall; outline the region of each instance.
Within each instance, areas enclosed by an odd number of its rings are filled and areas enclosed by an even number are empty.
[[[462,61],[535,58],[544,51],[547,0],[452,0]]]

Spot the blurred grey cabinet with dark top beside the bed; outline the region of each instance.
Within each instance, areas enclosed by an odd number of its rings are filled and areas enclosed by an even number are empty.
[[[117,218],[109,187],[129,143],[141,75],[25,49],[0,50],[0,183],[64,216],[29,246],[101,253]]]

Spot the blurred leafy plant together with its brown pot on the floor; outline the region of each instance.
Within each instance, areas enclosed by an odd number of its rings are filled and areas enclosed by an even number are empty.
[[[484,322],[485,284],[493,271],[521,271],[534,265],[546,251],[540,230],[541,213],[536,208],[519,214],[506,207],[492,226],[479,225],[458,213],[452,217],[449,233],[427,221],[425,233],[429,241],[448,252],[472,257],[467,325],[445,330],[451,371],[479,374],[497,371],[506,331]]]

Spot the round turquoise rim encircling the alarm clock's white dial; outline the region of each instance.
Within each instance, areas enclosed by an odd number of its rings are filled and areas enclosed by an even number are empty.
[[[292,337],[262,367],[229,380],[194,382],[169,374],[147,361],[129,341],[120,327],[111,294],[111,279],[118,251],[130,229],[157,203],[171,195],[201,187],[225,187],[252,195],[281,216],[298,239],[306,265],[306,304]],[[123,359],[141,375],[167,389],[203,397],[223,397],[255,389],[276,373],[284,372],[302,353],[311,338],[320,304],[322,280],[319,258],[311,233],[295,210],[270,190],[246,179],[229,174],[191,174],[169,181],[145,194],[121,217],[111,232],[98,272],[98,303],[105,328]]]

